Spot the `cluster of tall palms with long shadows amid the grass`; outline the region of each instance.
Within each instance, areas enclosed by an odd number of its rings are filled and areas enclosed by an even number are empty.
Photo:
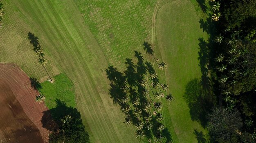
[[[143,45],[146,52],[153,56],[151,45],[147,42]],[[137,64],[126,58],[127,66],[123,73],[113,66],[106,69],[107,78],[110,80],[110,98],[126,115],[124,123],[136,127],[137,138],[146,137],[154,142],[165,139],[171,142],[171,134],[163,123],[162,111],[162,99],[170,102],[174,100],[171,93],[167,94],[169,86],[160,83],[153,65],[144,62],[140,52],[135,51],[135,57]],[[162,62],[158,66],[159,69],[165,69],[166,63]]]

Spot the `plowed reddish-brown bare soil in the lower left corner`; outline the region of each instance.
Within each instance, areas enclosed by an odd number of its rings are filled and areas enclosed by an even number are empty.
[[[42,127],[43,111],[29,77],[15,64],[0,63],[0,132],[8,143],[47,143],[49,132]],[[2,136],[1,136],[2,137]]]

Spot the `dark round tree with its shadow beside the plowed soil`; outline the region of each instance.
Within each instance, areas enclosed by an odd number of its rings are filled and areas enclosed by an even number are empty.
[[[56,107],[44,111],[41,122],[43,128],[51,131],[49,142],[88,143],[88,133],[76,108],[68,107],[64,101],[56,99]]]

